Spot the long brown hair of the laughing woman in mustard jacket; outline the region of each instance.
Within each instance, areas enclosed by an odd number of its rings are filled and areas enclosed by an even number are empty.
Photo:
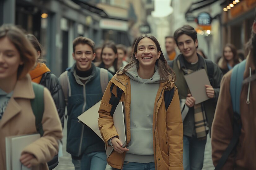
[[[145,37],[150,38],[156,44],[157,52],[161,52],[159,59],[157,59],[157,61],[156,61],[156,65],[158,67],[160,80],[162,80],[164,82],[167,81],[166,86],[169,87],[170,82],[176,81],[176,75],[175,75],[174,71],[172,70],[172,68],[170,68],[170,66],[167,64],[167,61],[163,55],[163,52],[161,50],[159,42],[153,35],[150,35],[150,34],[143,34],[137,38],[137,40],[134,44],[134,47],[133,47],[133,53],[132,53],[130,62],[123,68],[122,71],[121,71],[121,69],[119,69],[117,71],[117,74],[119,74],[119,75],[124,74],[125,72],[127,72],[130,68],[132,68],[135,65],[136,65],[137,69],[139,69],[139,61],[135,57],[135,52],[137,52],[137,47],[138,47],[140,40],[142,40]],[[169,80],[170,75],[172,77],[171,80]]]

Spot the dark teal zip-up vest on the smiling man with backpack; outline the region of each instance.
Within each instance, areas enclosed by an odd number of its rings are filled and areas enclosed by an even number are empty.
[[[68,74],[68,122],[67,122],[67,152],[73,159],[81,159],[82,154],[96,151],[105,152],[104,142],[88,126],[78,122],[78,116],[94,106],[102,99],[100,85],[100,68],[92,63],[92,73],[84,83],[77,77],[74,64],[67,69]],[[66,72],[60,75],[66,74]],[[108,80],[113,76],[108,73]]]

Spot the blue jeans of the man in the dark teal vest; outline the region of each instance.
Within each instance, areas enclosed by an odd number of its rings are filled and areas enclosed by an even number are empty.
[[[83,154],[81,160],[72,159],[75,170],[105,170],[107,165],[106,152]]]

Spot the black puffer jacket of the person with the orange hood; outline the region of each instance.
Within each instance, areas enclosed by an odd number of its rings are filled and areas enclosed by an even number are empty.
[[[64,126],[64,112],[65,112],[65,100],[64,94],[61,89],[58,78],[51,72],[46,72],[42,75],[42,79],[40,81],[41,85],[45,86],[50,92],[51,96],[55,102],[60,121],[62,124],[62,128]],[[55,168],[59,164],[58,155],[55,155],[54,158],[48,162],[49,169]]]

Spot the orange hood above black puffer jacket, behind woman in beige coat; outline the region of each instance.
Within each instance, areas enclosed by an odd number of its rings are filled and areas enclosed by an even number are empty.
[[[38,63],[36,68],[29,72],[31,79],[35,83],[40,83],[44,73],[51,71],[44,63]]]

